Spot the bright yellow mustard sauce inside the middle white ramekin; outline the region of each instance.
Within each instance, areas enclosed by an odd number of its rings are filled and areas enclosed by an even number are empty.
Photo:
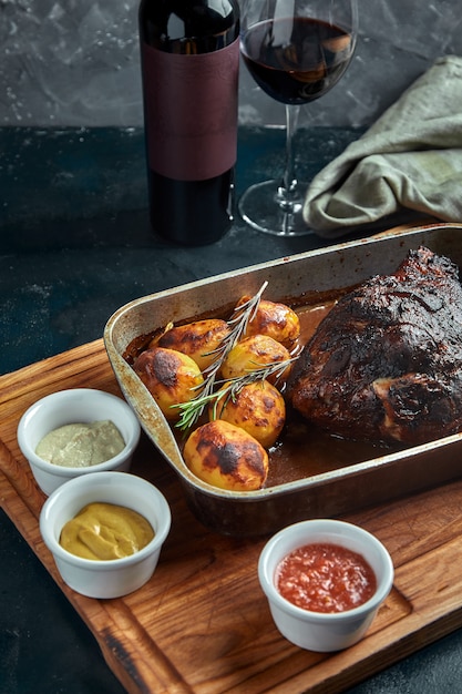
[[[60,544],[83,559],[111,560],[130,557],[154,537],[141,513],[112,503],[89,503],[68,521]]]

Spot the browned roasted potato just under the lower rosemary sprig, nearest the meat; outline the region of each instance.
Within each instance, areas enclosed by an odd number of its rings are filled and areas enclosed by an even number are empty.
[[[225,389],[226,384],[220,390]],[[283,431],[286,404],[275,386],[257,380],[240,388],[234,397],[224,395],[216,407],[211,405],[208,414],[211,420],[224,419],[250,433],[264,448],[270,448]]]

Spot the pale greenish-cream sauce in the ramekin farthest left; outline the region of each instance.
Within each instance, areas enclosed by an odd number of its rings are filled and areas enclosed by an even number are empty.
[[[75,422],[53,429],[39,441],[35,453],[66,468],[88,468],[113,458],[125,441],[110,420]]]

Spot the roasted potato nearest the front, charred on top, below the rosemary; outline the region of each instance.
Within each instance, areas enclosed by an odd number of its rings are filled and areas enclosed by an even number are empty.
[[[220,489],[260,489],[268,474],[268,453],[247,431],[223,419],[195,429],[183,457],[189,470]]]

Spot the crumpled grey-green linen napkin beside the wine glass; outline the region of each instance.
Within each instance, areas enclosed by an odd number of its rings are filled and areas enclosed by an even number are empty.
[[[462,221],[462,58],[446,55],[312,180],[304,218],[336,238],[413,211]]]

